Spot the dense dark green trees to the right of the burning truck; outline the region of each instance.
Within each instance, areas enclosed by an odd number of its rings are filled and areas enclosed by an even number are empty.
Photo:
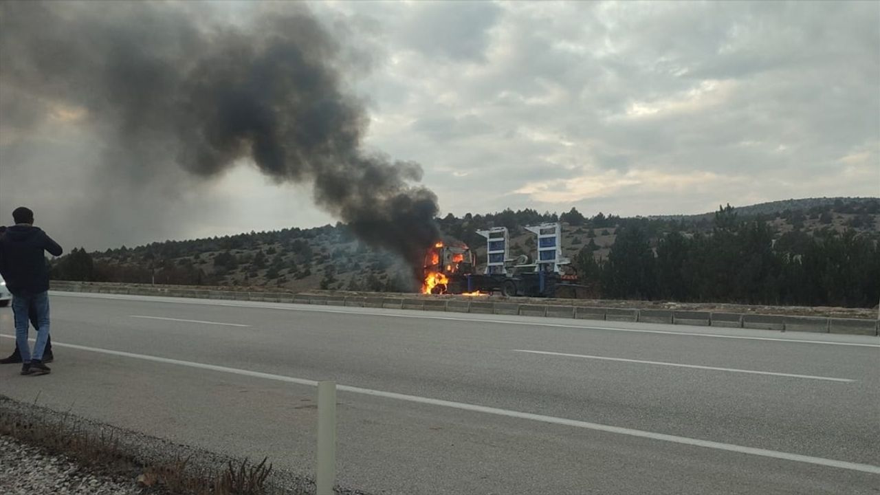
[[[609,299],[873,307],[880,298],[876,233],[795,230],[774,240],[766,222],[730,207],[711,232],[665,233],[656,248],[645,225],[627,225],[607,259],[582,249],[576,266]]]

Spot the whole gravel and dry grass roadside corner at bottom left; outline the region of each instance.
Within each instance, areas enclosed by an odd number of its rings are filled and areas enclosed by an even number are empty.
[[[250,466],[254,462],[251,460]],[[256,460],[259,463],[261,460]],[[129,495],[214,493],[209,485],[242,459],[73,417],[0,394],[0,494]],[[273,462],[268,459],[268,462]],[[185,475],[185,476],[180,476]],[[146,477],[147,485],[139,484]],[[160,479],[185,488],[173,489]],[[260,495],[309,495],[311,479],[271,469]],[[341,495],[369,495],[336,487]]]

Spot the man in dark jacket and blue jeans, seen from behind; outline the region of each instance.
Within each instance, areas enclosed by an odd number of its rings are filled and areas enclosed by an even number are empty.
[[[46,374],[51,370],[43,363],[49,336],[49,273],[45,251],[60,256],[62,248],[55,240],[33,226],[33,211],[25,207],[12,211],[15,225],[0,237],[0,275],[12,292],[12,313],[15,315],[15,340],[21,354],[22,374]],[[28,309],[37,312],[37,342],[33,355],[27,343]]]

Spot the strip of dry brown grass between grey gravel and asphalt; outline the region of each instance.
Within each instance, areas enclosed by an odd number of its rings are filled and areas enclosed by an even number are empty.
[[[143,494],[307,495],[312,480],[252,462],[87,421],[0,395],[0,434],[64,455],[84,470],[136,484]],[[337,489],[337,493],[364,495]]]

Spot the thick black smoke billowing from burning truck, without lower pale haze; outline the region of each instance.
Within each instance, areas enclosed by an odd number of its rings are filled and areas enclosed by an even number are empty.
[[[436,196],[413,185],[417,164],[363,151],[369,119],[344,91],[341,47],[291,8],[229,23],[208,4],[4,2],[0,123],[84,108],[125,176],[169,163],[214,176],[251,158],[275,181],[311,183],[320,207],[415,267],[439,237]]]

